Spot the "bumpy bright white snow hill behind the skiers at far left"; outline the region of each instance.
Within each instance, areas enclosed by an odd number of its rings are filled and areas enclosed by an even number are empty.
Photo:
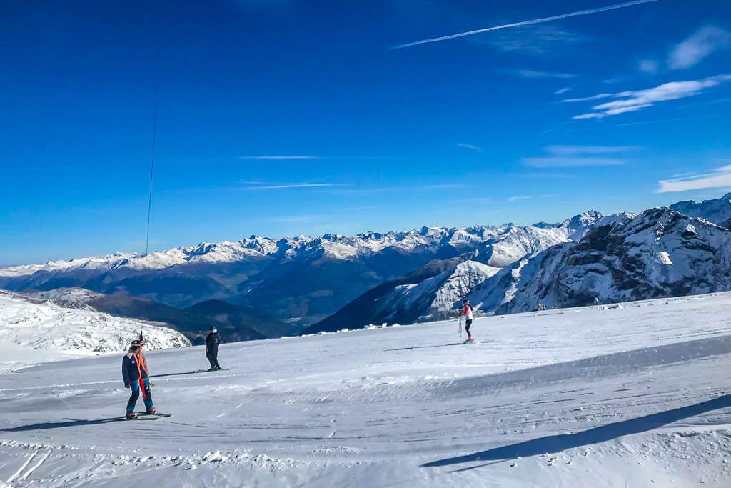
[[[0,372],[40,361],[126,351],[140,329],[151,349],[190,345],[173,329],[50,301],[36,303],[0,290]]]

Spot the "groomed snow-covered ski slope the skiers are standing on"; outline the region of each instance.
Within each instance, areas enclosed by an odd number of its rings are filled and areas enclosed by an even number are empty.
[[[0,375],[11,487],[731,486],[731,294],[148,353]]]

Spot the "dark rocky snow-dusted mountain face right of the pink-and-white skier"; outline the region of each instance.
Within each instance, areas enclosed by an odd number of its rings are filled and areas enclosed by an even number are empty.
[[[498,313],[731,289],[729,230],[667,208],[599,220],[536,259],[534,276]]]

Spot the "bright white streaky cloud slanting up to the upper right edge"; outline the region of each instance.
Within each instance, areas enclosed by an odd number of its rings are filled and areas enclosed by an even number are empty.
[[[595,112],[583,113],[574,116],[573,119],[604,119],[607,116],[619,115],[620,113],[636,112],[637,110],[652,107],[658,102],[694,97],[702,93],[705,89],[713,88],[713,86],[718,86],[730,80],[731,75],[717,75],[702,80],[672,81],[647,90],[622,91],[620,93],[609,94],[610,97],[621,100],[595,105],[592,107],[592,110],[596,110]],[[588,97],[586,100],[592,100],[597,97],[606,98],[607,94]],[[583,100],[573,99],[573,101]]]

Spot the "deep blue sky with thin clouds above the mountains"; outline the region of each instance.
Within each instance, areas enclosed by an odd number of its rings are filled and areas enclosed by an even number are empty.
[[[0,264],[145,249],[161,39],[153,249],[719,197],[731,3],[618,3],[4,1]]]

